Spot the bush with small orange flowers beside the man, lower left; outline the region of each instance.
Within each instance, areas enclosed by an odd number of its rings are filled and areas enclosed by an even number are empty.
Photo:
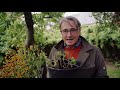
[[[4,65],[0,66],[0,78],[42,78],[42,66],[47,57],[37,45],[9,50]]]

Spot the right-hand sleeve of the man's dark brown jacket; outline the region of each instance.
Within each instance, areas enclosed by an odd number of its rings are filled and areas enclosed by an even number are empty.
[[[99,48],[97,48],[97,51],[96,51],[95,64],[96,64],[95,78],[109,78],[109,76],[107,75],[105,60]]]

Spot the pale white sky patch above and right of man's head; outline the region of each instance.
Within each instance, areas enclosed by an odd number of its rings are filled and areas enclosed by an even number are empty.
[[[92,12],[66,12],[64,17],[66,16],[74,16],[76,17],[80,23],[83,24],[91,24],[95,23],[96,20],[92,16]]]

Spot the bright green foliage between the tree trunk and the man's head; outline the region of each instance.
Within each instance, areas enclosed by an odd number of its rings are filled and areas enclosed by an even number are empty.
[[[59,38],[59,20],[63,12],[41,12],[33,15],[35,28],[35,41],[41,47],[57,42]],[[47,29],[49,27],[49,29]]]

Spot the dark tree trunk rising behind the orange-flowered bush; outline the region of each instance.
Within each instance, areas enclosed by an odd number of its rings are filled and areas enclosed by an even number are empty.
[[[31,12],[24,12],[25,22],[27,25],[27,37],[25,41],[25,47],[29,48],[30,45],[34,44],[34,28],[33,28],[33,20]]]

